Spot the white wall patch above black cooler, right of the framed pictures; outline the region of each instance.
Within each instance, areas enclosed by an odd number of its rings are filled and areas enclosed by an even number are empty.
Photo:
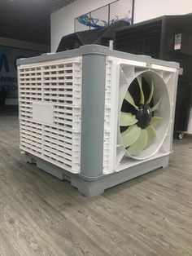
[[[162,15],[180,15],[192,12],[191,0],[135,0],[134,23]]]

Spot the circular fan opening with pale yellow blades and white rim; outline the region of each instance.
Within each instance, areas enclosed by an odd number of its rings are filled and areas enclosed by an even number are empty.
[[[159,151],[168,132],[167,86],[153,71],[139,73],[128,86],[120,108],[120,139],[128,157],[143,160]]]

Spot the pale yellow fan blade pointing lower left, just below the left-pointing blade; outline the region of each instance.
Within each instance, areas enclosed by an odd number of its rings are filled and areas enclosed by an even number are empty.
[[[141,128],[137,125],[129,126],[127,130],[121,133],[121,139],[124,143],[124,147],[127,148],[132,145],[141,133]]]

